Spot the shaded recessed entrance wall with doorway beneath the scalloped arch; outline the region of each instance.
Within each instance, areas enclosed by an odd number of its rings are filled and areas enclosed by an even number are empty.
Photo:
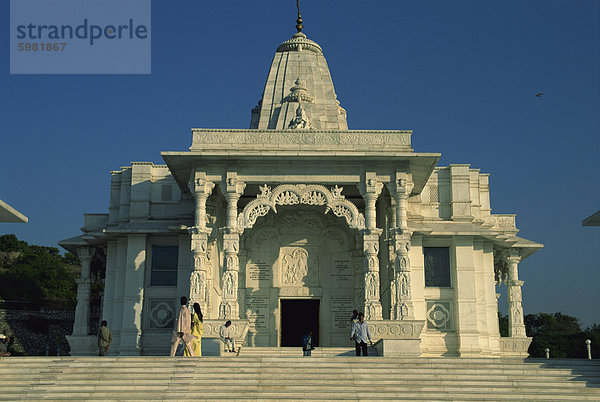
[[[363,256],[345,219],[325,214],[323,206],[280,206],[243,238],[240,285],[249,345],[298,346],[302,332],[312,329],[320,346],[347,346],[349,318],[364,286],[358,279]]]

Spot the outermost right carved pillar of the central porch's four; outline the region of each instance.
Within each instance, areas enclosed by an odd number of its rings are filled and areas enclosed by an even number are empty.
[[[394,272],[390,285],[390,318],[393,320],[413,320],[414,309],[410,278],[410,241],[408,229],[408,197],[413,189],[410,173],[397,172],[394,182],[388,184],[390,194],[396,204],[396,227],[394,228]]]

